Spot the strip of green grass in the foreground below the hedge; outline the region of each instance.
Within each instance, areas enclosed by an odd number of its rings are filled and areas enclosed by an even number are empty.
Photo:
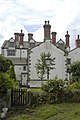
[[[80,120],[80,103],[46,104],[19,114],[15,111],[7,120]]]

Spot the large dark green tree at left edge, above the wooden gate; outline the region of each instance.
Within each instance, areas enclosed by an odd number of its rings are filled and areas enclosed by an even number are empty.
[[[8,58],[0,55],[0,92],[17,86],[14,65]]]

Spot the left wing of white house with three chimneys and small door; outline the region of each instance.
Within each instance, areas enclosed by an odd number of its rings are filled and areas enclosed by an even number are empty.
[[[28,77],[28,49],[36,46],[33,34],[28,34],[28,41],[24,41],[24,33],[14,33],[14,39],[11,37],[5,40],[1,47],[1,54],[12,60],[15,66],[16,79],[19,84],[26,85]]]

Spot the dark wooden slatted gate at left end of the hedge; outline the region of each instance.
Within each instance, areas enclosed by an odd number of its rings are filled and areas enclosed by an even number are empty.
[[[27,106],[27,89],[11,90],[11,107]]]

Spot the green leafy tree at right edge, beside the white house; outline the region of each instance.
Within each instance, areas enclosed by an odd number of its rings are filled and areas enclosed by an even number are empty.
[[[80,80],[80,61],[73,62],[70,65],[69,73],[72,74],[72,82]]]

